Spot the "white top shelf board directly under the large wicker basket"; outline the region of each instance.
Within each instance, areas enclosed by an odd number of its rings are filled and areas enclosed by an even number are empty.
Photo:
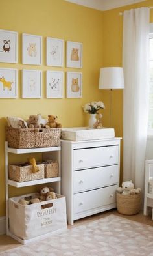
[[[35,148],[35,149],[14,149],[8,147],[8,152],[13,154],[26,154],[26,153],[38,153],[38,152],[50,152],[50,151],[60,151],[61,147],[45,147],[45,148]]]

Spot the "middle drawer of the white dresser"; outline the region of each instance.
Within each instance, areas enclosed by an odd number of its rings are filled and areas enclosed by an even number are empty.
[[[118,165],[98,167],[73,172],[74,193],[102,186],[110,186],[118,182]]]

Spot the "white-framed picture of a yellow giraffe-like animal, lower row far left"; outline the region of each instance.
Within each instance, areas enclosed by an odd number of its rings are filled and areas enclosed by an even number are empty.
[[[0,68],[0,98],[17,98],[18,70]]]

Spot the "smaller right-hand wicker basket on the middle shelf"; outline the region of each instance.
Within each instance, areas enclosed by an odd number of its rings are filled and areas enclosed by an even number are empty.
[[[47,160],[45,164],[45,178],[58,177],[58,162]]]

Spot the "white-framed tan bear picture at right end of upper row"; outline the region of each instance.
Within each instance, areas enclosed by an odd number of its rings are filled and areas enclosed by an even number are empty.
[[[82,68],[82,49],[83,44],[80,42],[67,41],[67,68]]]

